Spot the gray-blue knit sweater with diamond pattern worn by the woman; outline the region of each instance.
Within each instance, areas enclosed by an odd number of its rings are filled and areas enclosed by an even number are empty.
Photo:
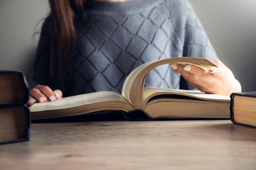
[[[34,81],[60,88],[64,96],[95,91],[121,93],[127,75],[151,60],[218,58],[187,0],[92,1],[75,28],[76,52],[70,56],[63,79],[49,79],[50,18],[43,24],[34,65]],[[55,64],[57,68],[57,60]],[[151,71],[145,86],[191,88],[168,65]]]

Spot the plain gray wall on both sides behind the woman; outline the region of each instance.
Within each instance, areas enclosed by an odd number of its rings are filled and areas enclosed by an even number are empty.
[[[220,60],[256,91],[256,0],[190,0]],[[0,70],[21,70],[34,87],[34,60],[48,0],[0,0]]]

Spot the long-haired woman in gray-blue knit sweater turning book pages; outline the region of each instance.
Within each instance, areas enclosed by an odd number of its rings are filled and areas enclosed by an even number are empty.
[[[119,2],[122,1],[122,2]],[[240,83],[216,55],[187,0],[49,0],[28,104],[95,91],[121,92],[137,66],[168,57],[205,57],[206,73],[171,64],[151,71],[145,86],[230,95]],[[182,76],[181,76],[182,75]],[[56,90],[58,89],[58,90]]]

